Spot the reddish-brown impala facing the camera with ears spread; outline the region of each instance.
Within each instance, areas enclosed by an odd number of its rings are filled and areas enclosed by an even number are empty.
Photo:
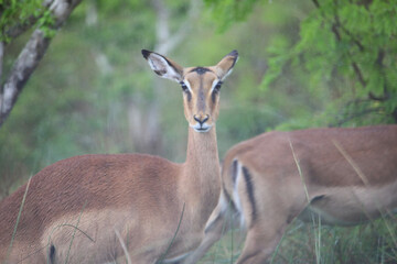
[[[155,74],[182,86],[185,163],[84,155],[44,168],[0,204],[0,263],[176,262],[200,244],[221,193],[219,89],[238,54],[190,68],[142,54]]]

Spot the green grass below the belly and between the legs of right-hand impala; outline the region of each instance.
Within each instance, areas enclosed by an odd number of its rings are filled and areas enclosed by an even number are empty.
[[[395,264],[396,235],[396,218],[352,228],[294,221],[279,243],[271,263]],[[238,231],[226,234],[200,263],[234,263],[244,244],[244,238],[238,237],[243,237]]]

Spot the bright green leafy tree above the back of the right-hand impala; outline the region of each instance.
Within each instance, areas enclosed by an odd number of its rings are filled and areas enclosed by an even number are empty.
[[[323,89],[332,96],[326,102],[333,106],[328,114],[334,116],[328,120],[329,125],[347,120],[358,124],[360,119],[354,117],[364,116],[382,116],[376,122],[396,122],[397,65],[393,57],[397,42],[391,41],[397,33],[391,26],[396,23],[396,7],[380,0],[367,6],[334,0],[320,4],[302,21],[297,43],[268,48],[269,72],[262,87],[268,89],[282,77],[286,67],[291,67],[309,80],[309,92]],[[335,116],[341,107],[343,114]]]

